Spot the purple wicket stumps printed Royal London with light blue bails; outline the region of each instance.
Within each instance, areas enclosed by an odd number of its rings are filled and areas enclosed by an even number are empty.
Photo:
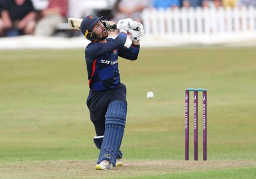
[[[203,94],[203,160],[207,160],[207,90],[186,89],[185,91],[185,160],[189,160],[189,92],[194,92],[194,161],[198,161],[198,91]]]

